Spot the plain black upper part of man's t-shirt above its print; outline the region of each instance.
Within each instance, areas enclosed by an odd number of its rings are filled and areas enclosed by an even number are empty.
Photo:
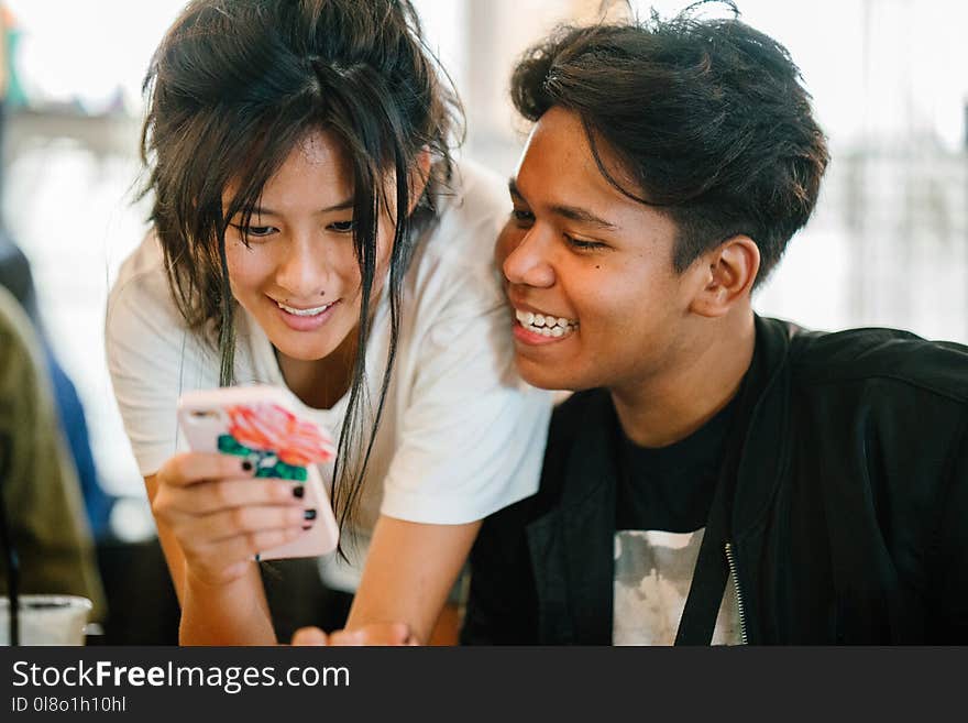
[[[661,448],[639,447],[615,418],[616,529],[692,533],[705,527],[735,399],[685,439]]]

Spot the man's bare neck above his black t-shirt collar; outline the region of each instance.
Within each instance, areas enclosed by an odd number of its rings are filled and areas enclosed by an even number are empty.
[[[636,445],[668,447],[685,439],[736,395],[756,344],[752,309],[737,309],[715,326],[667,372],[610,390],[622,428]]]

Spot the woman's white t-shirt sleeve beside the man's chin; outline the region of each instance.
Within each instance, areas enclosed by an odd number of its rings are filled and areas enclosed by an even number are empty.
[[[538,489],[551,395],[517,376],[507,307],[473,283],[451,284],[461,293],[419,342],[384,483],[387,516],[462,524]]]

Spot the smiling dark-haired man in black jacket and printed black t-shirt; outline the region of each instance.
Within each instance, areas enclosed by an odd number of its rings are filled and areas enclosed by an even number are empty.
[[[968,642],[968,349],[750,305],[828,160],[787,51],[571,29],[512,86],[517,365],[576,393],[482,528],[462,640]]]

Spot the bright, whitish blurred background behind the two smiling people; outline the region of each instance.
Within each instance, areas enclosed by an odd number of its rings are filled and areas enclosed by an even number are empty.
[[[133,202],[141,81],[183,4],[0,2],[2,222],[30,262],[38,324],[86,416],[94,469],[85,496],[94,534],[110,540],[105,555],[154,539],[111,393],[102,327],[118,267],[146,229],[147,205]],[[685,4],[606,3],[604,12],[671,15]],[[968,3],[737,4],[799,64],[833,156],[816,213],[758,293],[757,309],[818,329],[891,326],[968,343]],[[464,154],[513,173],[527,129],[507,100],[512,64],[556,24],[598,18],[602,3],[416,6],[466,108]],[[132,642],[121,638],[114,642]]]

